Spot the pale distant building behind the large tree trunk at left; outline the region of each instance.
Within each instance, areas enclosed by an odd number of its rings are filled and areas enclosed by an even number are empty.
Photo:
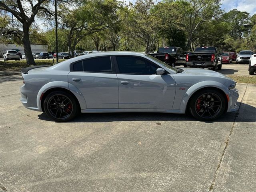
[[[21,54],[25,53],[22,45],[0,44],[0,56],[3,56],[4,52],[7,50],[16,50]],[[48,53],[48,45],[31,44],[31,50],[32,50],[32,53],[40,53],[40,52]]]

